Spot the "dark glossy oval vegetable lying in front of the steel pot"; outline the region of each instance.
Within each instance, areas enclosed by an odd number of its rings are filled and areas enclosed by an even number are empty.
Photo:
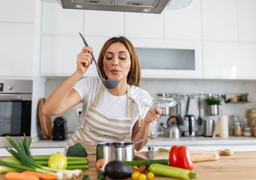
[[[122,161],[109,161],[105,167],[105,174],[111,179],[127,179],[131,177],[134,169],[127,166]]]

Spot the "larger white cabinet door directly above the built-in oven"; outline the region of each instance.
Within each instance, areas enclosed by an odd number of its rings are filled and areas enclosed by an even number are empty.
[[[0,23],[0,76],[32,77],[33,24]]]

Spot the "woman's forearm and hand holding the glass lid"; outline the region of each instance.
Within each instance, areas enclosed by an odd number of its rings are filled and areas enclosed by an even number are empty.
[[[147,112],[144,120],[142,120],[141,127],[138,126],[138,120],[133,126],[132,129],[132,142],[138,141],[142,138],[145,138],[151,133],[151,126],[154,120],[159,119],[162,111],[160,109],[150,109]],[[135,150],[141,150],[146,144],[148,140],[142,141],[141,143],[135,144]]]

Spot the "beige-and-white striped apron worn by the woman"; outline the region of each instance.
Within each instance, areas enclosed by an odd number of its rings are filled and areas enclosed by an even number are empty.
[[[89,108],[89,112],[86,115],[86,120],[84,120],[82,125],[74,132],[68,141],[67,147],[81,143],[88,154],[95,154],[95,143],[123,141],[125,136],[129,134],[129,129],[132,124],[132,103],[137,103],[130,94],[130,86],[127,85],[127,117],[124,118],[112,118],[97,110],[97,105],[103,91],[106,91],[106,88],[101,83],[95,100],[92,102],[92,106]],[[141,118],[141,112],[139,114],[139,118]]]

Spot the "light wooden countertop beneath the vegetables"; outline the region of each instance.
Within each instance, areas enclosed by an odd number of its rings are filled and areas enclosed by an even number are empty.
[[[91,180],[97,179],[95,170],[95,155],[89,155],[89,170],[84,174]],[[194,172],[198,173],[198,180],[255,180],[256,179],[256,152],[234,152],[231,156],[221,156],[217,161],[194,163]],[[0,174],[0,180],[4,175]],[[80,177],[82,179],[82,177]],[[158,179],[170,179],[156,176]]]

